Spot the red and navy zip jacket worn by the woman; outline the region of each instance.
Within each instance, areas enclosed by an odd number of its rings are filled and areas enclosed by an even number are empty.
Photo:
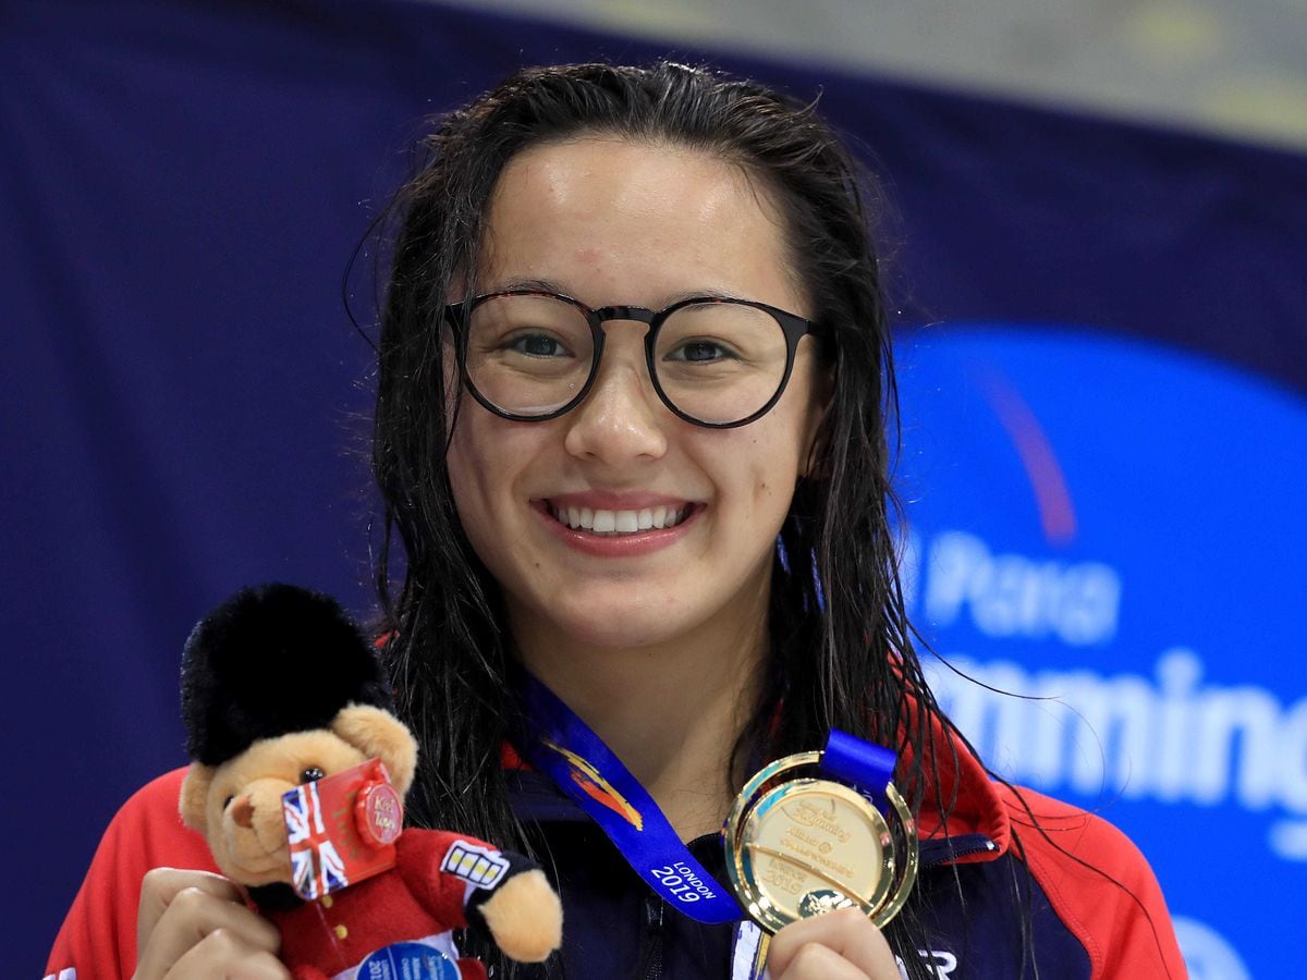
[[[176,815],[182,775],[146,785],[110,825],[55,941],[52,975],[76,967],[76,980],[131,976],[145,872],[157,865],[216,870],[204,839]],[[518,817],[538,827],[538,843],[549,848],[545,870],[555,878],[566,924],[562,955],[523,976],[729,976],[729,925],[664,915],[589,818],[545,776],[519,771],[512,779]],[[1120,831],[1029,789],[1018,796],[968,755],[941,779],[945,792],[957,792],[949,838],[937,802],[927,800],[916,886],[929,933],[920,955],[938,976],[1006,980],[1022,970],[1034,976],[1023,953],[1030,950],[1040,977],[1187,976],[1161,889]],[[691,849],[710,872],[721,872],[715,835]]]

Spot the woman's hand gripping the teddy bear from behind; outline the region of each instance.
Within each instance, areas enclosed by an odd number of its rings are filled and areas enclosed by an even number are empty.
[[[135,980],[288,980],[280,946],[276,926],[218,874],[156,868],[141,882]]]

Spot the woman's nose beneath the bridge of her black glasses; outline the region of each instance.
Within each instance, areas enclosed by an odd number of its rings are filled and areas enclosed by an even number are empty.
[[[643,331],[612,327],[599,375],[586,400],[563,421],[567,452],[618,465],[660,459],[667,452],[664,426],[670,413],[654,391],[644,365]]]

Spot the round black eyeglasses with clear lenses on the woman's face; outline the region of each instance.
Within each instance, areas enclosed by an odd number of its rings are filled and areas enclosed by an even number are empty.
[[[799,341],[816,324],[752,299],[695,297],[664,310],[605,306],[514,289],[450,303],[459,367],[472,396],[515,422],[544,422],[589,393],[604,354],[604,324],[648,325],[644,361],[676,416],[732,429],[765,416],[786,391]]]

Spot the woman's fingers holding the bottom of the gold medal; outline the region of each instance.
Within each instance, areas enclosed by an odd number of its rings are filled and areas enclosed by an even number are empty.
[[[791,923],[767,947],[771,980],[901,980],[881,930],[860,909]]]

